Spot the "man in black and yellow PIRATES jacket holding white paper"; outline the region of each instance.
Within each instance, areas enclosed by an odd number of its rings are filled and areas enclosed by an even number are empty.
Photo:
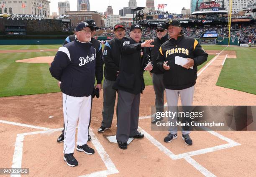
[[[170,20],[166,25],[166,29],[170,38],[160,47],[157,60],[159,61],[159,69],[164,72],[164,86],[168,109],[171,112],[177,111],[180,95],[182,106],[184,106],[182,107],[183,111],[186,112],[184,109],[189,111],[189,107],[192,106],[193,102],[197,66],[207,61],[208,54],[197,40],[184,35],[178,20]],[[178,61],[182,60],[186,61],[186,64],[180,66]],[[176,125],[177,116],[169,117],[169,121]],[[189,121],[186,120],[186,122]],[[192,145],[189,133],[189,127],[183,126],[182,139],[185,141],[185,144]],[[169,126],[169,134],[164,138],[164,142],[168,143],[176,138],[177,126]]]

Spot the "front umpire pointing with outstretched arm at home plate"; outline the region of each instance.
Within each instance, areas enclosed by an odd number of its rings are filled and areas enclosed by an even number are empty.
[[[139,24],[133,24],[130,30],[131,37],[124,37],[121,42],[120,73],[113,86],[118,89],[118,128],[116,139],[121,149],[127,149],[129,137],[143,138],[144,135],[137,131],[140,97],[145,88],[143,69],[152,70],[149,65],[143,68],[146,56],[146,48],[154,47],[147,40],[141,43],[142,28]]]

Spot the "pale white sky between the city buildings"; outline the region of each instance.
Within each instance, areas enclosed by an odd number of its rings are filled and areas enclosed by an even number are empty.
[[[65,0],[49,0],[50,3],[50,13],[58,11],[58,2]],[[68,0],[70,4],[70,11],[77,11],[77,0]],[[114,14],[119,14],[119,10],[123,7],[128,7],[129,0],[90,0],[91,10],[97,12],[105,12],[108,5],[113,8]],[[145,7],[146,0],[136,0],[137,7]],[[155,0],[155,9],[157,9],[158,4],[167,4],[164,11],[172,13],[181,13],[183,7],[190,8],[190,0]]]

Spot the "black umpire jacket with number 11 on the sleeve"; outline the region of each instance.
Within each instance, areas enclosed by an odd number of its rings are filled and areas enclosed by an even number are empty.
[[[103,50],[104,76],[110,81],[115,81],[119,71],[121,40],[111,39],[105,43]]]

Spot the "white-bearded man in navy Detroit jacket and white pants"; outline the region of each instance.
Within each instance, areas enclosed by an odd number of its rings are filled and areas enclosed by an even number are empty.
[[[51,75],[61,81],[64,113],[64,160],[71,167],[77,166],[74,158],[75,132],[77,121],[77,151],[93,154],[87,145],[90,122],[91,95],[94,90],[96,70],[96,50],[92,47],[91,35],[94,30],[86,22],[75,29],[76,38],[59,48],[51,63]],[[96,85],[101,88],[101,84]]]

